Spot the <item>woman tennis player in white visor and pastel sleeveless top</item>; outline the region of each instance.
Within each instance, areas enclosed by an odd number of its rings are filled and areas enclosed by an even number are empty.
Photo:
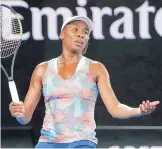
[[[94,108],[98,92],[115,118],[150,114],[159,101],[143,101],[132,108],[118,101],[105,66],[83,54],[87,50],[92,21],[83,16],[66,20],[61,28],[62,54],[36,66],[24,102],[11,102],[11,115],[19,123],[30,122],[43,90],[46,107],[36,148],[95,148]]]

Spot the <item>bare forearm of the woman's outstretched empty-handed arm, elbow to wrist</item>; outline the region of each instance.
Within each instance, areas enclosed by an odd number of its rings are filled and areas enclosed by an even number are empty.
[[[140,109],[139,108],[132,108],[127,105],[119,103],[117,106],[115,106],[111,112],[111,115],[114,118],[120,118],[120,119],[127,119],[131,117],[138,117],[140,116]]]

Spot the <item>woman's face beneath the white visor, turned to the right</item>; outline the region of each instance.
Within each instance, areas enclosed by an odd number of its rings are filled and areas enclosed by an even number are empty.
[[[60,39],[63,47],[73,53],[82,53],[89,40],[88,26],[82,21],[74,21],[66,25]]]

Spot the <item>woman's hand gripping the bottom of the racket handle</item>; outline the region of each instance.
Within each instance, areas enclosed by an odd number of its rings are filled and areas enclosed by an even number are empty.
[[[25,112],[24,103],[22,101],[20,103],[11,102],[9,110],[13,117],[22,117]]]

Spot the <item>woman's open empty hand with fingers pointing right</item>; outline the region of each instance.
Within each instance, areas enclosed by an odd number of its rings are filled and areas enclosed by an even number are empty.
[[[142,104],[139,105],[140,114],[147,115],[152,113],[159,103],[160,101],[153,101],[153,102],[150,102],[149,100],[147,100],[146,102],[143,101]]]

